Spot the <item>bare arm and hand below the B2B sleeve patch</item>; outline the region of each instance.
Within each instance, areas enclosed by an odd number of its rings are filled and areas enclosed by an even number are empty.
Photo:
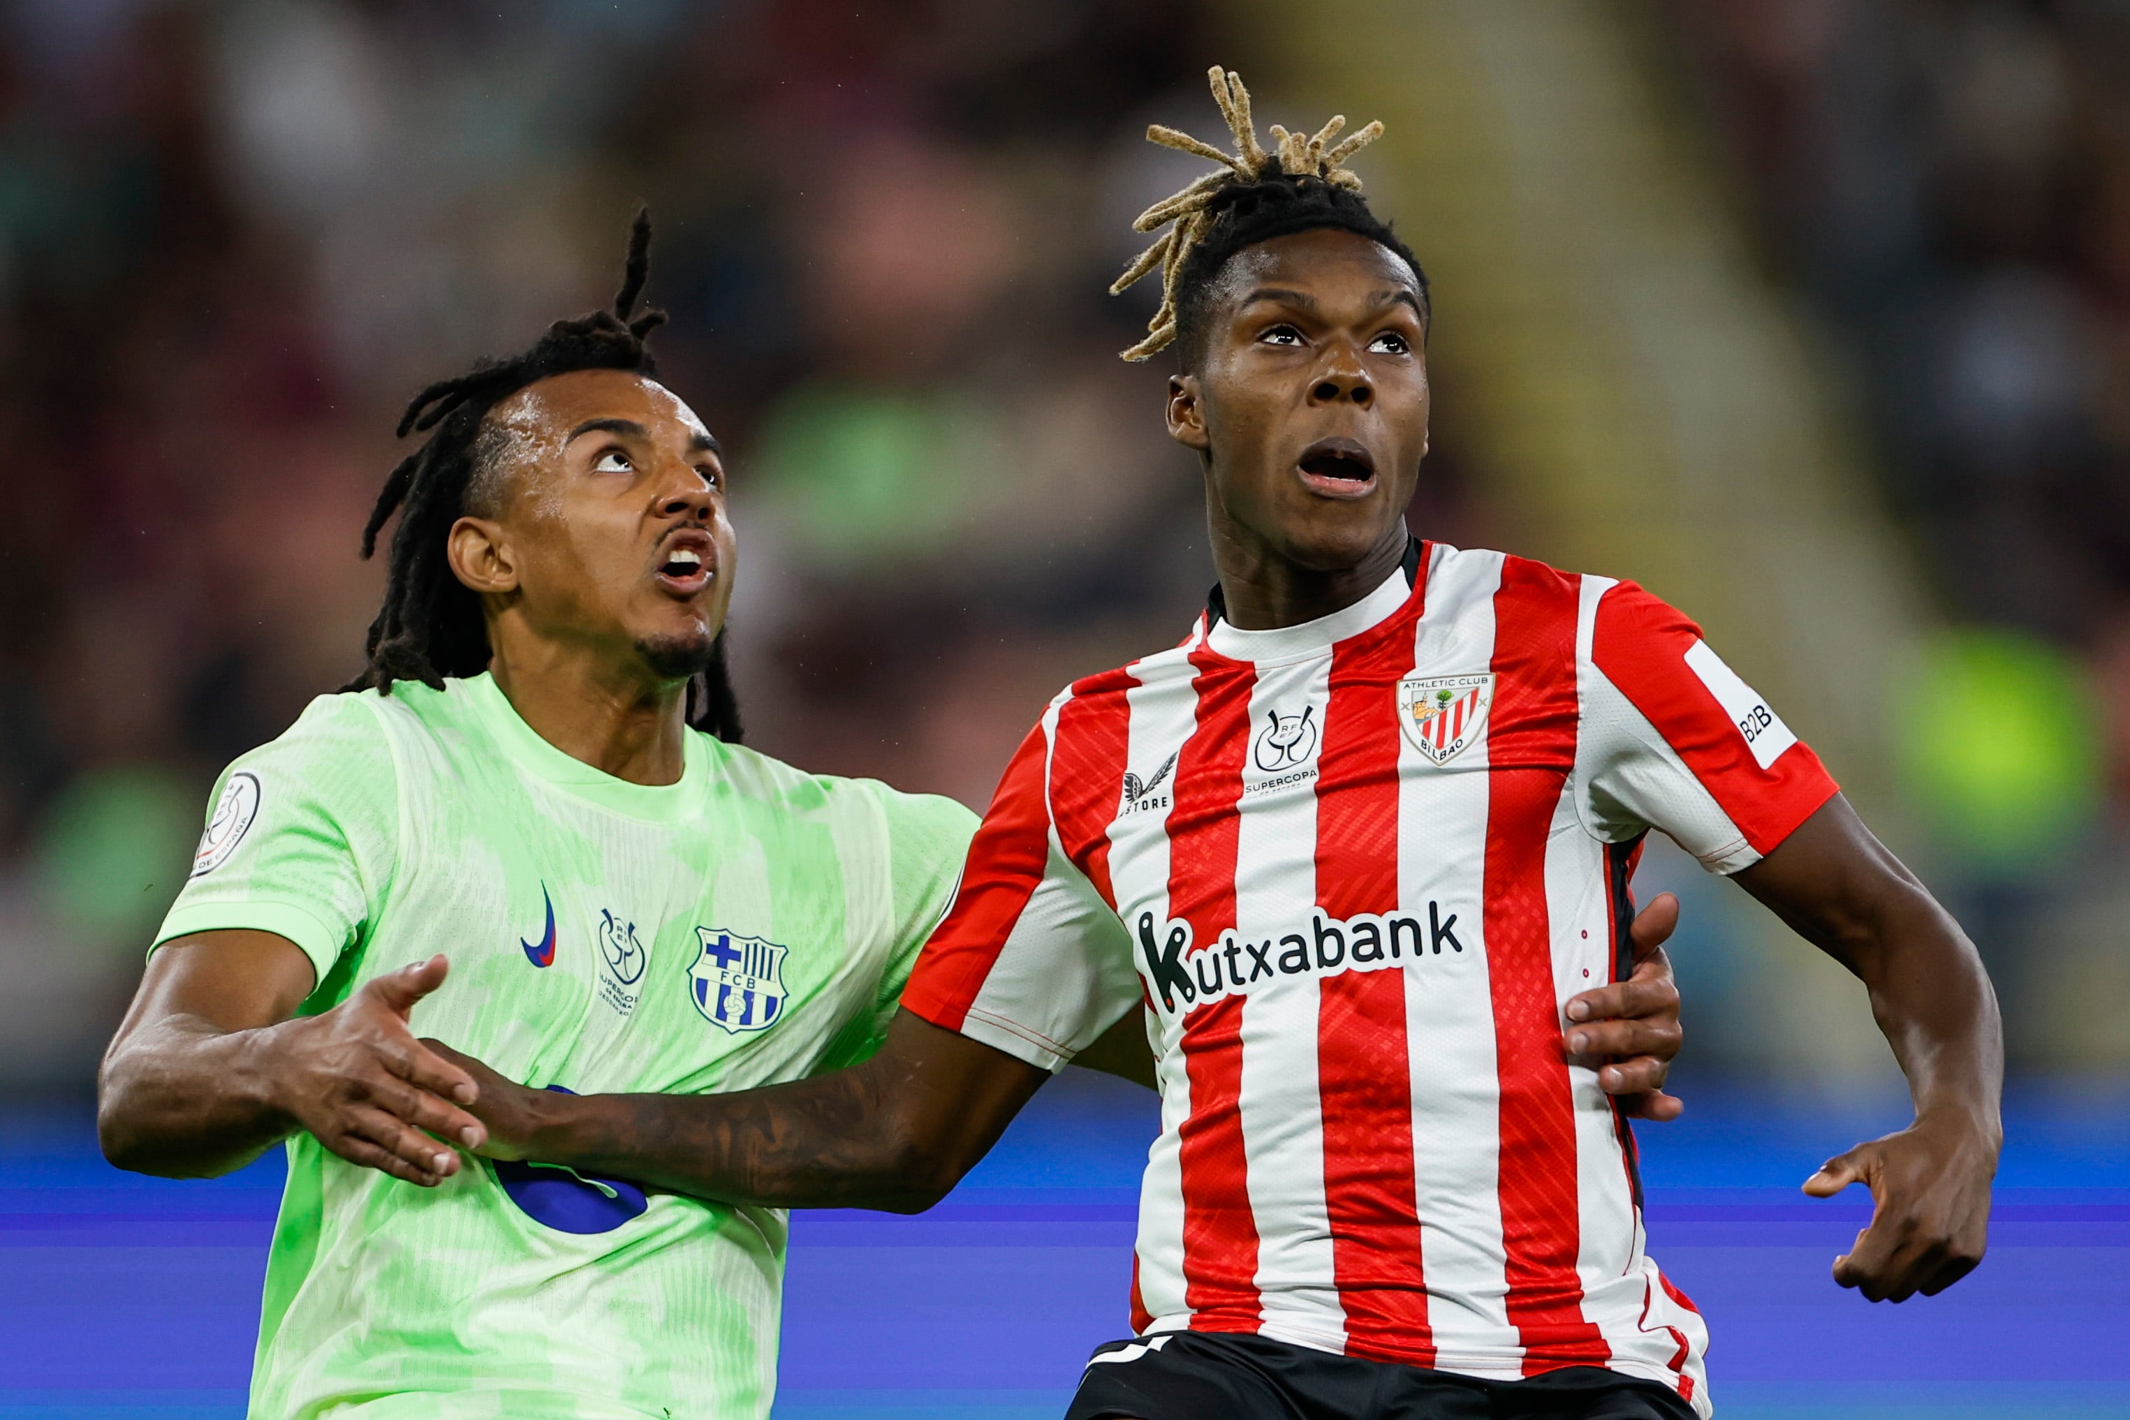
[[[1943,1292],[1983,1258],[2004,1141],[2004,1033],[1981,956],[1842,796],[1738,881],[1864,981],[1915,1099],[1915,1124],[1804,1184],[1821,1199],[1872,1190],[1870,1226],[1834,1260],[1834,1279],[1872,1301]]]

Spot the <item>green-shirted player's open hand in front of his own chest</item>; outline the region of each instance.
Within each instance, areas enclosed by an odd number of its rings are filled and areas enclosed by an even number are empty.
[[[407,1028],[413,1003],[443,986],[445,971],[445,960],[432,956],[364,981],[330,1011],[290,1020],[271,1035],[275,1107],[347,1162],[422,1188],[458,1173],[458,1154],[437,1147],[437,1139],[475,1147],[486,1137],[481,1122],[458,1107],[479,1094],[473,1077],[424,1050]]]

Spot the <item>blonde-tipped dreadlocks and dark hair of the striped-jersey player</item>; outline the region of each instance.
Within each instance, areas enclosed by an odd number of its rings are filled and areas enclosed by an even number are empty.
[[[1135,232],[1161,232],[1152,247],[1125,268],[1110,294],[1120,296],[1142,277],[1161,268],[1161,309],[1146,324],[1146,339],[1123,351],[1125,360],[1146,360],[1172,343],[1182,345],[1184,366],[1197,364],[1206,285],[1227,260],[1244,247],[1308,232],[1336,228],[1380,243],[1408,266],[1419,281],[1421,311],[1427,313],[1427,275],[1419,260],[1397,241],[1391,226],[1378,219],[1361,198],[1361,179],[1346,160],[1382,136],[1382,123],[1367,123],[1344,141],[1346,115],[1333,115],[1314,134],[1287,132],[1272,126],[1272,149],[1257,141],[1250,117],[1250,92],[1242,75],[1214,64],[1206,70],[1212,100],[1227,119],[1235,151],[1223,153],[1212,143],[1176,128],[1152,123],[1148,143],[1195,153],[1220,164],[1189,187],[1161,198],[1131,224]]]

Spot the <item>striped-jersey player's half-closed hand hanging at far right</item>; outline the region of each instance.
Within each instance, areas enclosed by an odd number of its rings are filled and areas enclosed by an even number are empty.
[[[1804,1192],[1832,1199],[1868,1184],[1870,1226],[1834,1258],[1834,1279],[1870,1301],[1936,1297],[1975,1271],[1989,1245],[1998,1143],[1975,1128],[1917,1122],[1830,1158]]]

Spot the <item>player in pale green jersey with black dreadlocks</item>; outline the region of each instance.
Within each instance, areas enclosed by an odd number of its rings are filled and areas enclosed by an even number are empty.
[[[724,466],[645,351],[645,243],[611,313],[415,398],[368,666],[224,775],[104,1058],[121,1167],[288,1145],[253,1416],[767,1414],[786,1216],[462,1158],[475,1084],[413,1026],[573,1092],[852,1064],[973,832],[739,745]],[[1649,975],[1617,1024],[1668,1058]]]

